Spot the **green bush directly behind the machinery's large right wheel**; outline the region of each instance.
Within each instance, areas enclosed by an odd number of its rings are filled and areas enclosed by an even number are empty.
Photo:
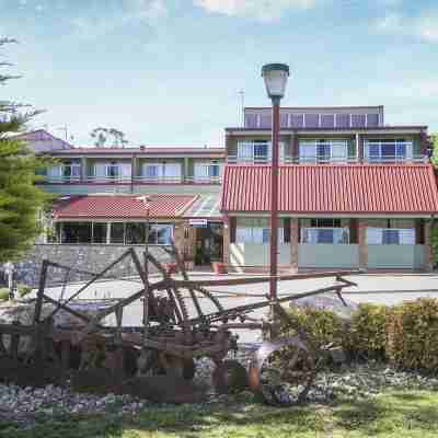
[[[299,324],[315,347],[323,347],[328,344],[341,346],[344,344],[345,323],[335,313],[311,307],[293,307],[286,311],[291,322],[281,322],[281,336],[296,335],[296,327]]]

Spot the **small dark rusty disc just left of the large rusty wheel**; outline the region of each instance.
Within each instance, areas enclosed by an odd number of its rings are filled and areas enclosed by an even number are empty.
[[[237,360],[223,360],[212,373],[215,390],[219,394],[231,394],[247,387],[247,372]]]

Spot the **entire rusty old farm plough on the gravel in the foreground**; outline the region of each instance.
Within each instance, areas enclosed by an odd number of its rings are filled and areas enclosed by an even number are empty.
[[[68,383],[78,391],[129,393],[158,402],[195,402],[203,396],[203,391],[193,383],[196,362],[209,358],[214,364],[212,385],[219,393],[250,389],[270,404],[304,400],[318,371],[320,351],[299,325],[293,336],[275,337],[278,321],[289,318],[280,304],[324,292],[336,293],[343,300],[343,288],[355,286],[345,278],[353,272],[278,276],[279,281],[332,277],[333,284],[281,296],[275,301],[266,297],[226,309],[209,288],[242,285],[251,288],[269,281],[270,277],[191,280],[174,245],[163,251],[175,261],[180,276],[172,276],[148,249],[143,261],[129,249],[97,274],[44,261],[33,301],[33,321],[0,324],[0,380],[26,387]],[[108,273],[122,262],[130,262],[138,273],[136,292],[111,301],[94,314],[72,306],[95,281],[116,279]],[[158,275],[149,274],[152,267]],[[61,293],[55,299],[46,290],[50,269],[65,273],[66,281],[72,272],[88,275],[89,280],[69,297]],[[138,326],[127,326],[124,310],[134,303],[140,304],[142,321]],[[273,322],[253,316],[254,311],[269,308],[277,316]],[[58,312],[80,323],[55,324]],[[108,316],[113,318],[112,324],[105,323]],[[230,351],[239,348],[234,334],[239,330],[270,334],[255,350],[249,369],[230,359]],[[20,345],[24,339],[28,346],[23,350]],[[275,353],[285,348],[289,351],[288,381],[296,390],[296,397],[286,400],[265,372]]]

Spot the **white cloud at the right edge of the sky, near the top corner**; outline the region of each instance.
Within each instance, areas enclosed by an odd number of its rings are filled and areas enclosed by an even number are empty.
[[[438,11],[418,16],[390,13],[377,21],[377,28],[384,33],[411,36],[426,43],[438,43]]]

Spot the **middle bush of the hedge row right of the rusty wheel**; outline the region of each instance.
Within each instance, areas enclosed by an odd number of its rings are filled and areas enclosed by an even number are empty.
[[[388,312],[385,306],[359,304],[353,313],[344,344],[353,357],[385,358]]]

